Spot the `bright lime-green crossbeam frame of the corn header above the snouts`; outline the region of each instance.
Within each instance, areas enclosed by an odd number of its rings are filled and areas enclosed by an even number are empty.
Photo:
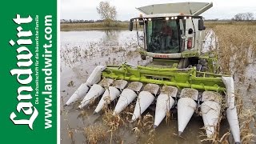
[[[201,74],[202,77],[197,76],[198,74]],[[206,75],[208,77],[205,77]],[[188,87],[198,90],[225,91],[221,74],[198,72],[195,70],[195,67],[190,69],[155,68],[146,66],[132,68],[129,65],[123,64],[119,67],[107,66],[106,70],[102,72],[102,77],[177,86],[178,88]]]

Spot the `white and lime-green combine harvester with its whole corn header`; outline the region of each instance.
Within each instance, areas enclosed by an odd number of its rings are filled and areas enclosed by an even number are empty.
[[[214,54],[202,54],[205,26],[199,14],[212,6],[180,2],[139,7],[145,15],[132,18],[129,29],[133,30],[134,22],[136,29],[143,26],[144,36],[138,36],[144,42],[142,59],[148,56],[153,61],[147,66],[97,66],[66,105],[84,97],[79,106],[83,108],[102,95],[94,113],[118,98],[114,114],[119,114],[137,98],[131,119],[135,121],[156,99],[154,128],[177,106],[181,135],[195,110],[200,110],[208,138],[213,136],[225,107],[234,142],[240,143],[234,79],[215,74],[217,60],[210,57]]]

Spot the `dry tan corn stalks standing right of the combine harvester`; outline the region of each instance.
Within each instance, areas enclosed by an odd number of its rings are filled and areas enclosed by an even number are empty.
[[[256,82],[255,78],[246,75],[246,70],[256,67],[255,22],[206,22],[206,26],[217,35],[215,50],[222,74],[234,75],[242,143],[255,142],[256,95],[252,83]],[[228,143],[228,137],[230,131],[215,137],[212,142]]]

